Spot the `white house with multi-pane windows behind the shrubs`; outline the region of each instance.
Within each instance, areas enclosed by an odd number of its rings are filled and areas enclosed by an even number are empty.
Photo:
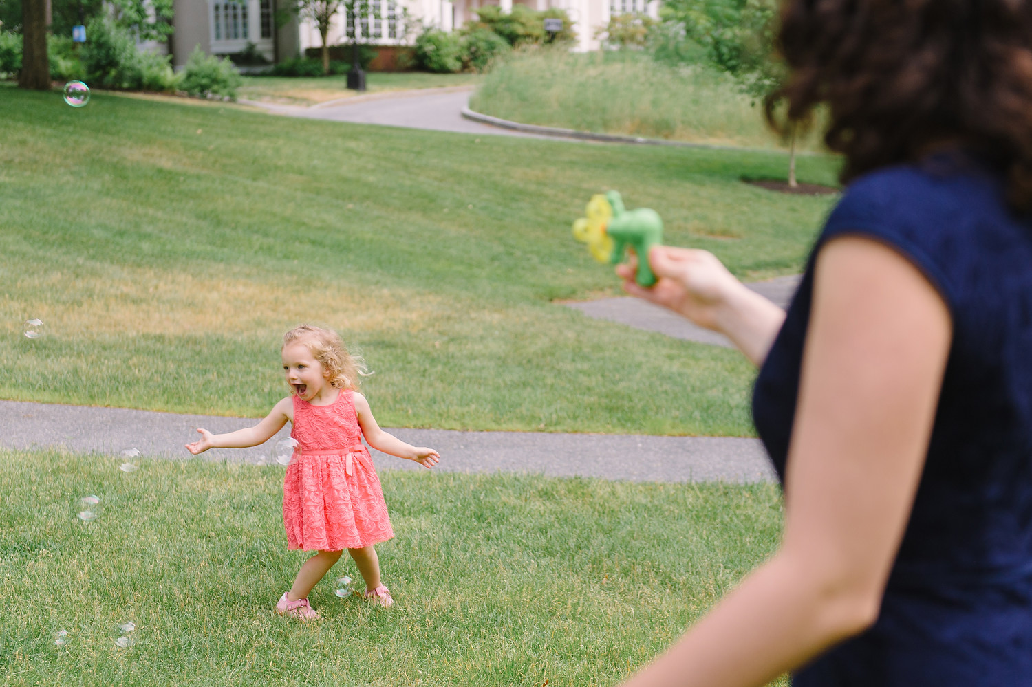
[[[322,45],[315,24],[296,19],[276,28],[277,0],[174,0],[174,33],[169,41],[173,64],[186,63],[195,45],[205,53],[227,55],[244,51],[253,43],[266,59],[278,62],[294,57],[308,47]],[[659,0],[369,0],[368,17],[359,21],[359,36],[379,45],[405,44],[422,26],[434,26],[445,31],[460,28],[476,19],[479,7],[502,5],[510,10],[513,3],[533,9],[565,9],[577,33],[575,50],[599,48],[594,37],[600,28],[609,24],[614,14],[643,12],[657,17]],[[415,24],[415,31],[406,31],[404,18]],[[348,42],[350,27],[338,12],[327,35],[330,45]]]

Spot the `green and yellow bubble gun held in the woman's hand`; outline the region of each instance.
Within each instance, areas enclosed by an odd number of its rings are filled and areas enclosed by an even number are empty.
[[[663,220],[647,207],[626,210],[616,191],[598,194],[588,201],[587,217],[574,222],[574,238],[587,243],[588,251],[599,262],[611,265],[623,260],[628,248],[638,255],[635,281],[643,287],[655,284],[655,274],[648,264],[648,251],[663,242]]]

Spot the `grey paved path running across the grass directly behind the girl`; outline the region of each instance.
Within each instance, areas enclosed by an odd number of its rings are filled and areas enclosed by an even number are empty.
[[[0,401],[0,447],[62,447],[120,459],[125,449],[144,456],[188,459],[183,447],[197,427],[216,433],[254,425],[256,420],[175,415],[115,407]],[[467,432],[446,429],[388,429],[416,446],[441,453],[436,468],[454,472],[530,472],[551,477],[595,477],[634,482],[770,482],[773,470],[757,439],[708,436]],[[287,428],[282,436],[289,435]],[[213,449],[216,460],[271,462],[276,437],[253,449]],[[382,469],[425,469],[372,451]]]

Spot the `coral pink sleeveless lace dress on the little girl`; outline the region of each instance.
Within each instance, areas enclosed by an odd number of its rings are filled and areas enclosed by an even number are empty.
[[[360,549],[394,536],[380,478],[362,445],[352,392],[329,405],[294,396],[297,441],[283,480],[289,549]]]

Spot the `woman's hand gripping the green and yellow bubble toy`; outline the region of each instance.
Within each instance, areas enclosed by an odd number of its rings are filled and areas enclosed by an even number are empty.
[[[635,283],[636,256],[616,267],[624,291],[668,307],[701,327],[721,330],[720,309],[730,294],[744,287],[716,256],[709,251],[656,246],[649,251],[648,261],[657,280],[649,289]]]

